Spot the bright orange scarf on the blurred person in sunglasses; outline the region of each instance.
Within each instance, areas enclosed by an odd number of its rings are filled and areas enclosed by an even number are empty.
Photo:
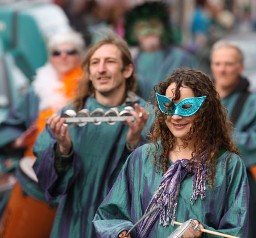
[[[68,73],[62,80],[61,82],[63,82],[64,86],[59,89],[58,91],[63,92],[63,94],[65,95],[65,97],[67,99],[71,99],[75,97],[75,91],[76,91],[76,87],[78,85],[78,78],[80,78],[82,76],[82,70],[80,68],[80,66],[78,66],[77,68],[75,68],[74,70],[72,70],[70,73]],[[30,137],[30,145],[27,147],[24,156],[33,156],[34,154],[32,153],[32,148],[33,145],[36,141],[36,137],[38,137],[39,133],[42,132],[44,130],[44,127],[46,126],[46,118],[51,116],[53,113],[57,112],[58,110],[60,110],[60,107],[62,107],[63,105],[53,105],[52,108],[48,108],[47,110],[44,111],[39,111],[38,114],[38,119],[36,120],[35,124],[38,127],[38,131],[35,133],[35,135],[33,137]],[[35,157],[34,157],[35,158]]]

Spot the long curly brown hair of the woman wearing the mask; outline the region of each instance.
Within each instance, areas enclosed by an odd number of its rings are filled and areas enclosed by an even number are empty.
[[[207,165],[210,170],[208,184],[212,186],[215,180],[219,149],[223,147],[239,155],[238,149],[232,139],[233,125],[228,119],[228,112],[226,108],[222,106],[220,96],[207,74],[195,69],[176,69],[165,81],[161,81],[155,85],[155,93],[166,95],[167,87],[171,83],[176,83],[173,101],[179,99],[180,87],[183,86],[190,87],[195,97],[207,96],[203,105],[195,114],[196,118],[193,120],[193,125],[188,132],[188,137],[183,146],[185,148],[189,141],[195,141],[191,158],[195,156],[196,153],[200,155],[207,149]],[[174,149],[175,146],[175,137],[165,123],[166,114],[160,111],[157,100],[155,99],[152,104],[155,108],[156,119],[153,130],[149,136],[151,139],[150,145],[154,144],[156,149],[151,155],[158,171],[161,167],[164,174],[168,169],[168,152]],[[158,153],[159,141],[162,144],[162,153],[160,156]],[[148,149],[148,152],[149,151],[150,149]],[[198,160],[200,160],[200,157]]]

